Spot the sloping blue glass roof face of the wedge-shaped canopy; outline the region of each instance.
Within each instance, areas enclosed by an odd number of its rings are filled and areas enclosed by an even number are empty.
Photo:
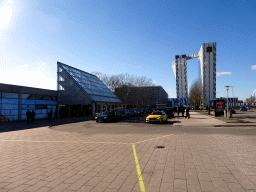
[[[95,75],[58,62],[58,67],[65,70],[79,87],[94,102],[122,103],[122,101]],[[65,89],[65,87],[64,87]]]

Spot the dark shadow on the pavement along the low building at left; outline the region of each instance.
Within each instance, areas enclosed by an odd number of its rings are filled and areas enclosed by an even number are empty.
[[[77,123],[82,121],[91,120],[92,117],[74,117],[74,118],[64,118],[64,119],[57,119],[53,120],[53,122],[48,122],[48,119],[40,119],[35,120],[34,124],[29,123],[27,121],[14,121],[14,122],[5,122],[0,124],[0,133],[1,132],[10,132],[10,131],[19,131],[25,129],[33,129],[38,127],[45,127],[45,126],[55,126],[55,125],[63,125],[69,123]]]

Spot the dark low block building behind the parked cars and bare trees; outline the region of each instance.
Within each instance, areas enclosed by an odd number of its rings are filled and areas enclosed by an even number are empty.
[[[167,104],[168,94],[161,86],[130,87],[115,89],[115,95],[128,106],[144,108],[152,105]]]

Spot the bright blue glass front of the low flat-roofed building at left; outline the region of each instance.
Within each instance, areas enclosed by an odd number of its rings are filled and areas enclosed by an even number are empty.
[[[37,96],[37,97],[35,97]],[[37,98],[37,99],[33,99]],[[41,100],[40,100],[41,99]],[[47,118],[47,113],[56,110],[56,97],[21,94],[20,120],[26,120],[26,112],[34,110],[35,119]],[[0,114],[10,121],[19,120],[19,94],[0,92]]]

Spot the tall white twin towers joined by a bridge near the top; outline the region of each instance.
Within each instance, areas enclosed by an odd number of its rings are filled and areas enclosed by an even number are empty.
[[[188,100],[187,60],[196,57],[201,67],[202,99],[207,106],[216,98],[216,42],[203,43],[198,53],[175,56],[172,68],[176,77],[176,95],[179,99]]]

